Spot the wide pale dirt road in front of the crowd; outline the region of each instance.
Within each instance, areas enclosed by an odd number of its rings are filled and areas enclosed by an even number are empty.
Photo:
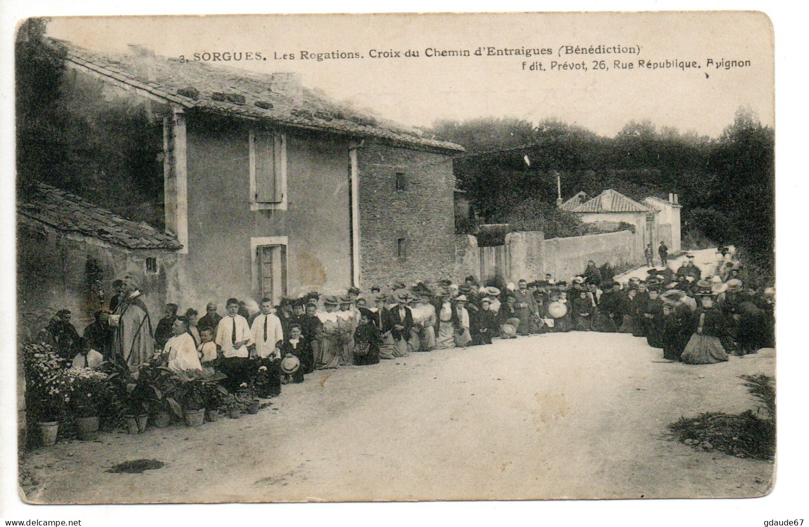
[[[755,408],[772,352],[663,362],[631,335],[538,335],[320,371],[272,409],[201,428],[41,449],[38,503],[752,496],[773,464],[669,441],[667,424]],[[166,465],[109,474],[138,458]]]

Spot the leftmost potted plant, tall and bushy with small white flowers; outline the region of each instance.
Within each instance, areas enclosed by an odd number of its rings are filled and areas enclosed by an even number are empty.
[[[47,344],[23,345],[25,403],[42,444],[55,445],[59,422],[65,414],[66,361]]]

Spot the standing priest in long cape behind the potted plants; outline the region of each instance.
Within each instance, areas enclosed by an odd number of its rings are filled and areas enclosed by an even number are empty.
[[[108,322],[115,328],[112,336],[112,352],[129,365],[133,372],[155,353],[155,339],[151,318],[143,303],[138,281],[125,276],[121,284],[121,302]]]

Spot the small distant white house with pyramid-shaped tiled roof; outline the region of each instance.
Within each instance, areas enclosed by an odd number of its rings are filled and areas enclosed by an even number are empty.
[[[560,208],[577,214],[584,223],[595,226],[595,230],[614,230],[621,222],[633,226],[639,261],[648,243],[652,244],[655,255],[661,240],[666,242],[670,253],[680,251],[680,204],[674,201],[673,195],[669,201],[655,197],[643,201],[638,203],[621,192],[608,189],[590,199],[584,192],[578,192]]]

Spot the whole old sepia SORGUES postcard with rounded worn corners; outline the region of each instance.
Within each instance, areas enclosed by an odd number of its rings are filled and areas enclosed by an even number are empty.
[[[752,11],[32,18],[32,504],[749,498],[775,469]]]

